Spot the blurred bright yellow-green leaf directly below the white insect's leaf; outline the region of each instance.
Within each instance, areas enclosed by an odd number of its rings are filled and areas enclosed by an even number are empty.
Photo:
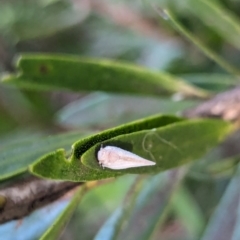
[[[67,225],[66,233],[71,232],[72,239],[79,239],[79,232],[81,239],[94,239],[99,226],[121,205],[136,177],[124,175],[88,191]]]

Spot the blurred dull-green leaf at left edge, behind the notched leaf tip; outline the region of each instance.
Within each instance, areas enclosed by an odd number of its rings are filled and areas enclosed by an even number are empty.
[[[5,145],[0,151],[0,180],[5,180],[27,171],[29,164],[46,154],[46,152],[61,147],[69,151],[74,141],[87,134],[89,133],[59,134]]]

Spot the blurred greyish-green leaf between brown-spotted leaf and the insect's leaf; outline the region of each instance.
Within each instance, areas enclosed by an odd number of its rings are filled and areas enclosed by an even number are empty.
[[[64,106],[56,121],[66,128],[105,129],[159,112],[181,112],[189,107],[193,107],[192,100],[175,102],[150,96],[95,92]]]

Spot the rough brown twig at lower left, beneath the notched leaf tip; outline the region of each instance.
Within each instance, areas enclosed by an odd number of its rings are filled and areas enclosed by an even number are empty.
[[[62,197],[82,183],[52,181],[33,176],[0,190],[0,223],[20,219]]]

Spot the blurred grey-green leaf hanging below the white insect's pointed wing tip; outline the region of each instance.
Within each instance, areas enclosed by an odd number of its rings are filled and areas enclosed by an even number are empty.
[[[184,173],[184,169],[167,171],[146,181],[119,239],[151,238],[156,226],[160,227],[166,220],[172,193],[177,189]]]

